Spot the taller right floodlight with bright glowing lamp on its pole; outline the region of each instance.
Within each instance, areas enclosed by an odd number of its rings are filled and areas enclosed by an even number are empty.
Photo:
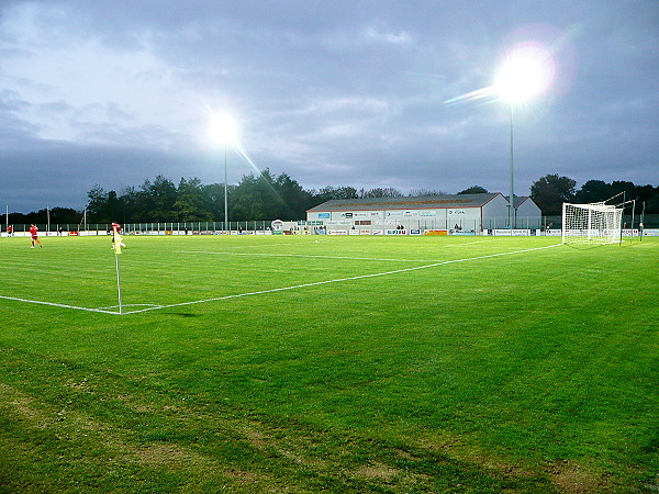
[[[514,108],[516,103],[527,101],[546,91],[554,80],[551,53],[538,44],[516,45],[505,56],[496,78],[494,89],[509,102],[511,114],[511,156],[510,156],[510,197],[509,227],[516,227],[515,186],[514,186]]]

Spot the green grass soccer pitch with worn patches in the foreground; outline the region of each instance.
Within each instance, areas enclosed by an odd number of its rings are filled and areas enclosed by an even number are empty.
[[[1,238],[1,492],[657,492],[659,238]],[[41,303],[35,303],[41,302]]]

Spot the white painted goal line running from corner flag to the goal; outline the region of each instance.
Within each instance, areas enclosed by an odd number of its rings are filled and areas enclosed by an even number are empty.
[[[196,305],[196,304],[203,304],[203,303],[209,303],[209,302],[219,302],[219,301],[223,301],[223,300],[230,300],[230,299],[239,299],[243,296],[252,296],[252,295],[263,295],[263,294],[267,294],[267,293],[276,293],[276,292],[283,292],[283,291],[288,291],[288,290],[297,290],[297,289],[302,289],[302,288],[309,288],[309,287],[320,287],[323,284],[330,284],[330,283],[339,283],[342,281],[354,281],[354,280],[364,280],[367,278],[377,278],[377,277],[384,277],[384,276],[390,276],[390,274],[398,274],[401,272],[409,272],[409,271],[417,271],[421,269],[428,269],[428,268],[436,268],[437,266],[446,266],[446,265],[454,265],[454,263],[458,263],[458,262],[467,262],[467,261],[471,261],[471,260],[479,260],[479,259],[490,259],[493,257],[501,257],[501,256],[511,256],[514,254],[523,254],[523,252],[530,252],[534,250],[543,250],[543,249],[548,249],[551,247],[558,247],[562,244],[552,244],[549,246],[545,246],[545,247],[534,247],[530,249],[522,249],[522,250],[512,250],[510,252],[499,252],[499,254],[488,254],[484,256],[476,256],[476,257],[468,257],[468,258],[463,258],[463,259],[451,259],[451,260],[446,260],[446,261],[439,261],[439,262],[433,262],[431,265],[425,265],[425,266],[416,266],[413,268],[403,268],[403,269],[395,269],[392,271],[384,271],[384,272],[375,272],[375,273],[370,273],[370,274],[360,274],[357,277],[347,277],[347,278],[337,278],[334,280],[325,280],[325,281],[315,281],[313,283],[302,283],[302,284],[294,284],[291,287],[281,287],[281,288],[276,288],[276,289],[270,289],[270,290],[259,290],[259,291],[255,291],[255,292],[247,292],[247,293],[237,293],[234,295],[225,295],[225,296],[215,296],[212,299],[204,299],[204,300],[194,300],[194,301],[190,301],[190,302],[181,302],[178,304],[169,304],[169,305],[161,305],[159,307],[147,307],[147,308],[141,308],[137,311],[127,311],[124,312],[123,315],[127,315],[127,314],[137,314],[141,312],[148,312],[148,311],[156,311],[156,310],[161,310],[161,308],[174,308],[174,307],[182,307],[186,305]],[[116,314],[116,313],[112,313],[112,314]]]

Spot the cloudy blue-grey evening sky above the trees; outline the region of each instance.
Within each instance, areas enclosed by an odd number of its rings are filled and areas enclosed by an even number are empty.
[[[488,88],[520,46],[552,78],[514,106],[515,192],[659,186],[657,0],[0,0],[1,212],[223,182],[213,112],[306,189],[507,195],[510,104]],[[253,170],[227,164],[230,183]]]

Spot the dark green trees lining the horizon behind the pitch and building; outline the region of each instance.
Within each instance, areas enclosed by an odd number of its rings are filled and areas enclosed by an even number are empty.
[[[228,221],[259,221],[280,218],[297,221],[306,216],[306,210],[332,199],[396,198],[404,194],[395,188],[356,189],[348,186],[327,186],[320,190],[304,189],[287,173],[243,176],[237,184],[227,189]],[[458,193],[484,193],[488,190],[473,186]],[[533,182],[530,197],[544,215],[559,215],[563,202],[605,201],[621,192],[628,200],[636,199],[646,213],[659,213],[659,187],[636,186],[627,181],[589,180],[580,189],[568,177],[547,175]],[[445,192],[415,189],[409,197],[442,195]],[[121,193],[97,184],[88,193],[85,212],[68,207],[53,207],[27,214],[10,213],[12,224],[79,224],[86,214],[89,223],[198,222],[224,221],[224,184],[203,184],[198,178],[181,178],[176,184],[159,175],[146,179],[139,187],[127,187]],[[504,194],[505,195],[505,194]],[[622,202],[622,197],[618,202]],[[4,215],[0,216],[7,222]]]

